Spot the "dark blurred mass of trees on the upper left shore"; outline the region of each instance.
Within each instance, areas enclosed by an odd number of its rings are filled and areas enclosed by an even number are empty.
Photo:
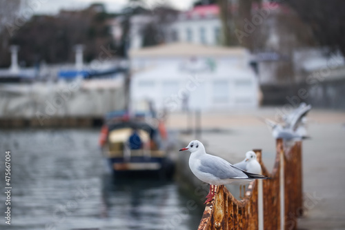
[[[27,66],[38,64],[41,60],[47,63],[71,62],[75,57],[75,44],[85,46],[86,61],[99,58],[103,52],[109,56],[109,50],[114,50],[114,47],[108,19],[113,15],[101,10],[102,7],[101,4],[92,4],[83,10],[61,10],[54,16],[34,15],[28,21],[21,21],[12,37],[3,30],[2,35],[7,38],[4,39],[4,52],[0,52],[0,65],[9,64],[6,50],[10,43],[20,46],[19,57]],[[19,17],[21,15],[24,14],[19,14]],[[16,20],[12,25],[17,26]]]

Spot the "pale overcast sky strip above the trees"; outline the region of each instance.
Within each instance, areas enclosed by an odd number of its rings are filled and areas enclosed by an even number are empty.
[[[1,1],[1,0],[0,0]],[[57,14],[61,9],[81,9],[86,8],[90,3],[100,2],[104,3],[108,12],[118,12],[126,6],[128,0],[26,0],[32,3],[34,12],[39,14]],[[144,0],[149,6],[154,6],[160,3],[168,2],[171,6],[179,10],[187,10],[195,0]]]

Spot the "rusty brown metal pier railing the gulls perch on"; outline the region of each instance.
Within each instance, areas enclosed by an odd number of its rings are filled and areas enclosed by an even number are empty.
[[[271,173],[262,162],[262,151],[254,150],[269,180],[251,182],[243,200],[222,186],[206,204],[198,230],[208,229],[297,229],[302,215],[302,142],[289,150],[277,140],[277,155]]]

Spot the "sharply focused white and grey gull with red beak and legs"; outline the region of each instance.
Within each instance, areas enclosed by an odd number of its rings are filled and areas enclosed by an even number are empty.
[[[190,151],[190,170],[199,180],[210,184],[210,192],[206,196],[208,199],[204,204],[210,202],[215,196],[215,185],[267,179],[264,175],[248,173],[221,157],[206,153],[204,145],[198,140],[191,141],[186,148],[181,148],[179,151]]]

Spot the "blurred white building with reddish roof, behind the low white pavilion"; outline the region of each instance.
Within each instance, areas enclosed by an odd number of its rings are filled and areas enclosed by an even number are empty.
[[[217,46],[221,44],[221,21],[219,19],[219,7],[214,5],[196,6],[195,8],[166,15],[169,19],[161,21],[161,17],[152,12],[132,15],[130,17],[130,49],[143,47],[144,28],[150,23],[159,27],[161,41],[165,43],[188,42],[192,44],[204,44]],[[110,19],[108,24],[115,42],[121,42],[123,28],[121,21],[124,17]]]

